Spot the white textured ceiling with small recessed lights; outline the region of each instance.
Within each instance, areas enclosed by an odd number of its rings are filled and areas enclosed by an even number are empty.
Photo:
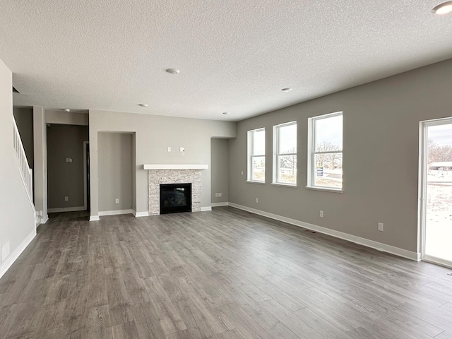
[[[17,106],[237,121],[451,58],[437,4],[1,0],[0,59]]]

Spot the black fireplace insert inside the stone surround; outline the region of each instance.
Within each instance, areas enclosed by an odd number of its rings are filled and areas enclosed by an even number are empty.
[[[160,214],[191,212],[191,183],[160,184]]]

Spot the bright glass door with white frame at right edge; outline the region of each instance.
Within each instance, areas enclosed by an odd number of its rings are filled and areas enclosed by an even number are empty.
[[[452,118],[421,122],[421,254],[452,268]]]

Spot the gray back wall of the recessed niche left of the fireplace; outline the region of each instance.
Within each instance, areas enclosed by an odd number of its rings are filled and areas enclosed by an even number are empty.
[[[133,206],[132,134],[98,133],[99,210],[129,210]],[[119,198],[119,203],[115,199]]]

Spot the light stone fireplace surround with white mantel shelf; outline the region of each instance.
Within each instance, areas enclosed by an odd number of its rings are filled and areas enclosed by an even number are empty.
[[[149,215],[160,214],[160,184],[191,183],[191,211],[201,211],[201,172],[208,165],[144,165],[148,169]]]

